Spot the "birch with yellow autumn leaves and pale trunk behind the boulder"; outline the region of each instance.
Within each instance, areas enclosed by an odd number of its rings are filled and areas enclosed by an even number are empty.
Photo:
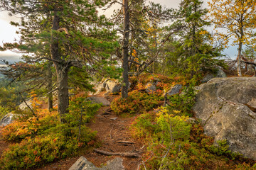
[[[216,28],[218,38],[223,39],[223,44],[228,47],[228,42],[238,45],[238,76],[241,73],[242,45],[250,44],[256,28],[256,1],[255,0],[212,0],[208,2],[209,18]]]

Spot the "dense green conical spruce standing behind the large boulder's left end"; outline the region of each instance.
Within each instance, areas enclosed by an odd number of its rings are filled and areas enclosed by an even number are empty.
[[[178,20],[171,26],[180,28],[176,34],[174,51],[169,52],[167,62],[171,74],[198,77],[201,71],[212,69],[220,56],[218,49],[210,45],[210,34],[205,30],[210,23],[204,19],[207,10],[202,1],[183,0],[177,13]]]

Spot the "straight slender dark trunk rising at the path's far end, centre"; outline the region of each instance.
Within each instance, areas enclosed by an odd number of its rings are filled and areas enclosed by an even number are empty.
[[[123,14],[124,14],[124,37],[123,37],[123,47],[122,47],[122,68],[124,69],[122,73],[123,85],[122,85],[122,98],[128,97],[128,86],[129,86],[129,7],[128,0],[123,0]]]

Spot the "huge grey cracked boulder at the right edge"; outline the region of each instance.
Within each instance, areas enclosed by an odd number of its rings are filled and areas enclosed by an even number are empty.
[[[193,111],[206,135],[256,160],[256,77],[215,78],[199,89]]]

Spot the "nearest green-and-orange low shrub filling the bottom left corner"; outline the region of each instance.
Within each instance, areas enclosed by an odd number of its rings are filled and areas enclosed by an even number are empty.
[[[75,137],[65,137],[60,133],[41,135],[35,138],[28,137],[21,143],[11,145],[0,159],[1,169],[28,169],[41,166],[71,156],[79,147],[86,146],[94,139],[95,132],[82,128],[83,140]]]

